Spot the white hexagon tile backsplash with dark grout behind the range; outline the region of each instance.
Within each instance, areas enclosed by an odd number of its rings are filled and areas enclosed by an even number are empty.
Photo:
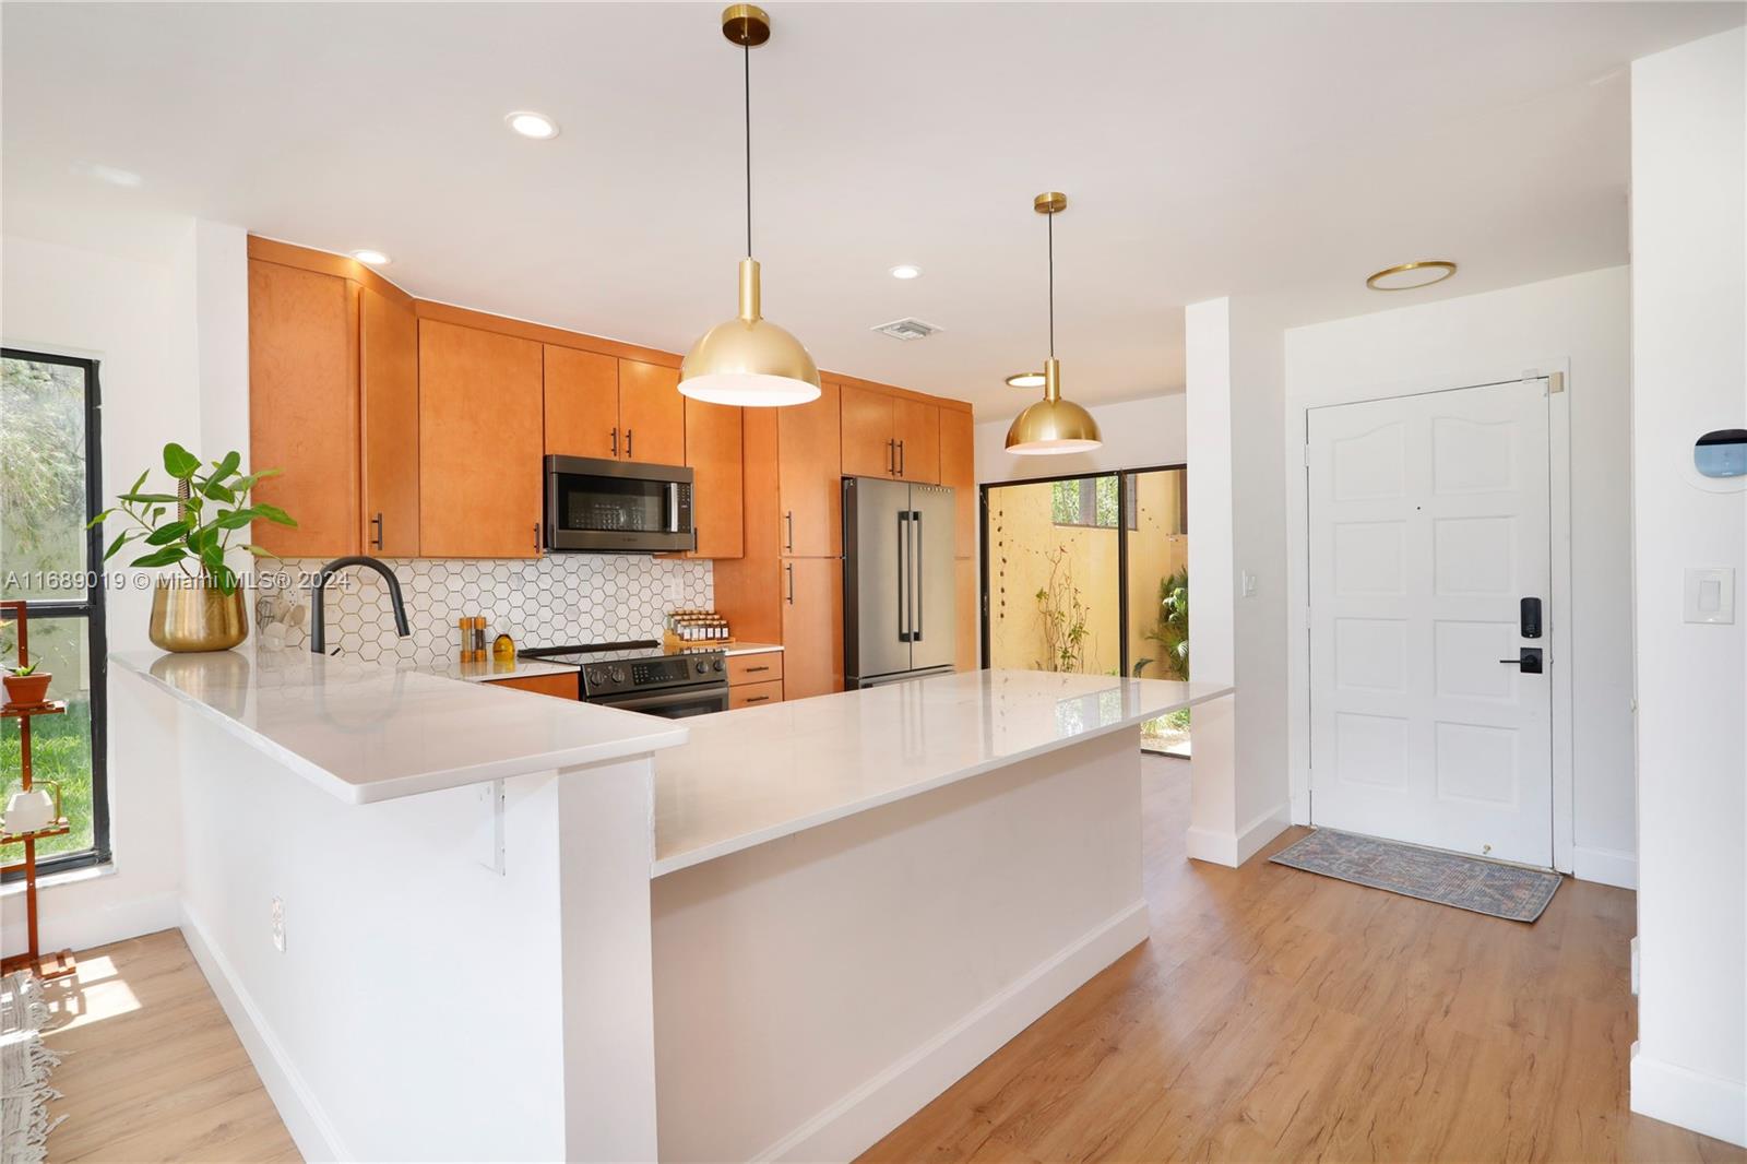
[[[346,570],[327,587],[327,641],[367,661],[444,662],[458,654],[456,619],[486,615],[486,633],[517,647],[568,647],[660,638],[676,608],[708,608],[715,580],[708,561],[629,554],[550,554],[528,559],[390,558],[400,579],[411,638],[395,634],[388,585],[374,570]],[[255,596],[262,641],[307,645],[309,587],[316,559],[264,561]],[[273,575],[288,582],[278,589]]]

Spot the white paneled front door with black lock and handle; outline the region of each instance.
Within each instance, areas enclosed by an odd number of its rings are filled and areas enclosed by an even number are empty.
[[[1557,666],[1546,381],[1310,409],[1309,440],[1312,823],[1551,865],[1551,687],[1515,662]]]

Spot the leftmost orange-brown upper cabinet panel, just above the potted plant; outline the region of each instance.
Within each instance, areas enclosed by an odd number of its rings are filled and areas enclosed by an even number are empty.
[[[257,545],[285,558],[360,551],[358,285],[351,280],[250,260],[248,468],[281,470],[255,488],[255,500],[297,519],[295,530],[257,523]]]

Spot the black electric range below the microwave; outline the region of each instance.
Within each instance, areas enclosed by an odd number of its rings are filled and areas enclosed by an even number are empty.
[[[713,648],[669,652],[652,638],[575,647],[528,647],[522,659],[573,664],[582,699],[671,720],[728,710],[727,654]]]

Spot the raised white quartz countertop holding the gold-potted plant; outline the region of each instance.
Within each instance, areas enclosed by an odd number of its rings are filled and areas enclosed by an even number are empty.
[[[687,739],[680,720],[307,650],[122,650],[110,662],[353,804],[646,755]]]

